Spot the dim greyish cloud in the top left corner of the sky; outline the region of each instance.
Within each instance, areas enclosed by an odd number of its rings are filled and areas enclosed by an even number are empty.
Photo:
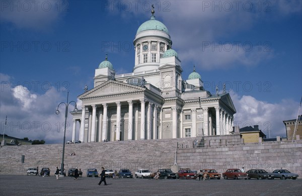
[[[68,11],[66,1],[2,1],[1,23],[11,23],[17,29],[49,31],[62,13]]]

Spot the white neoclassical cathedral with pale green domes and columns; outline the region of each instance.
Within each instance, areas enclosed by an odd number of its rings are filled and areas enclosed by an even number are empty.
[[[73,131],[80,122],[81,142],[153,140],[230,134],[236,109],[229,93],[212,95],[199,73],[183,69],[167,27],[150,20],[133,41],[132,73],[115,75],[106,59],[95,70],[94,88],[78,98],[82,110],[72,112]]]

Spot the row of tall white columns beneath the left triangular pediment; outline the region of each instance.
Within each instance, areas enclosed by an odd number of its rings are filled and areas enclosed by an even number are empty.
[[[158,116],[158,106],[149,102],[148,108],[147,108],[147,122],[145,122],[145,99],[140,99],[140,138],[141,140],[144,139],[155,139],[158,138],[157,135],[157,116]],[[128,111],[128,135],[127,138],[128,140],[132,140],[132,131],[133,131],[133,101],[127,101],[128,106],[129,106],[129,111]],[[115,135],[115,140],[120,140],[120,129],[121,129],[121,103],[120,102],[115,102],[117,109],[116,109],[116,135]],[[91,105],[92,106],[92,119],[91,119],[91,135],[90,135],[90,142],[95,142],[96,138],[96,113],[97,113],[97,106],[96,105]],[[104,103],[102,104],[103,106],[103,121],[102,121],[102,137],[101,140],[107,140],[107,131],[108,131],[108,126],[107,126],[107,111],[108,111],[108,104]],[[152,108],[154,106],[154,113],[152,114]],[[86,106],[82,106],[82,117],[81,117],[81,124],[80,124],[80,134],[79,134],[79,140],[81,142],[84,142],[84,131],[85,131],[85,117],[86,115]],[[152,116],[154,116],[153,122],[152,122]],[[77,120],[73,121],[73,131],[72,131],[72,141],[75,140],[75,125],[77,123]],[[153,130],[152,130],[153,127]],[[148,131],[148,134],[145,136],[145,131]],[[89,141],[89,140],[88,140]]]

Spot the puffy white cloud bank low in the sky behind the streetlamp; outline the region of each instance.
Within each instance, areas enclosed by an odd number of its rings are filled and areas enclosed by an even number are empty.
[[[66,93],[62,93],[55,88],[37,93],[28,90],[27,87],[11,86],[13,82],[9,75],[1,74],[1,96],[0,96],[0,119],[1,133],[5,129],[5,134],[31,140],[43,139],[46,143],[61,143],[64,131],[65,108],[60,107],[60,114],[55,111],[60,102],[64,102]],[[4,77],[2,77],[4,76]],[[34,90],[34,89],[32,89]],[[78,101],[81,105],[81,103]],[[78,106],[78,109],[81,109]],[[73,107],[69,107],[72,111]],[[4,127],[3,117],[8,116],[8,125]],[[68,114],[66,128],[66,140],[72,135],[72,116]],[[80,125],[77,124],[77,137],[79,138]]]

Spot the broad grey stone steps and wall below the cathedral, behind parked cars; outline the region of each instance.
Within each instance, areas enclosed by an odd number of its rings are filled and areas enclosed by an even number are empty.
[[[272,171],[283,167],[302,177],[302,140],[244,144],[240,135],[208,136],[204,147],[196,147],[194,140],[179,138],[162,140],[115,141],[81,144],[66,144],[65,169],[78,167],[86,174],[88,168],[129,168],[133,173],[138,168],[156,171],[171,168],[215,168],[223,172],[230,167],[263,168]],[[75,153],[75,156],[69,154]],[[25,156],[24,163],[21,162]],[[0,174],[26,175],[28,167],[48,167],[51,175],[60,168],[62,144],[4,146],[0,149]],[[174,167],[175,168],[175,167]]]

